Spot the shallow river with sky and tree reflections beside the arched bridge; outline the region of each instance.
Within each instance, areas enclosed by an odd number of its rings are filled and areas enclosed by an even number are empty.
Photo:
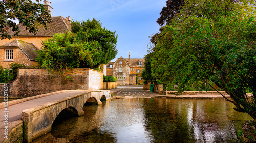
[[[218,99],[112,99],[56,119],[33,142],[241,142],[241,125],[252,118],[233,108]]]

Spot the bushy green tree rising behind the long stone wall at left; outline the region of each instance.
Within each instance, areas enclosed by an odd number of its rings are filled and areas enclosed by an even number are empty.
[[[98,68],[117,54],[115,32],[93,19],[72,22],[72,32],[55,34],[38,51],[38,65],[47,69]]]

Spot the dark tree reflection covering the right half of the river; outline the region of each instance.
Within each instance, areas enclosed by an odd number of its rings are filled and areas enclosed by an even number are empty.
[[[224,100],[145,99],[146,129],[154,142],[240,142],[243,119]]]

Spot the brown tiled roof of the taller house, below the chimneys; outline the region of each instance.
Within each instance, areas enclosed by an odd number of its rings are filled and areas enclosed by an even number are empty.
[[[62,16],[52,17],[52,22],[47,23],[47,30],[45,29],[44,25],[38,24],[39,31],[37,31],[36,35],[30,33],[29,30],[26,30],[26,27],[23,26],[23,24],[19,23],[18,27],[20,30],[18,36],[53,36],[55,33],[65,33],[66,31],[70,31],[71,23]],[[14,36],[16,32],[9,29],[7,33]]]

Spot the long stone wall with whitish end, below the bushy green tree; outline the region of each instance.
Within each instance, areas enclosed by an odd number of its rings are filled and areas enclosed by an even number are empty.
[[[10,83],[9,96],[28,97],[60,90],[101,90],[103,73],[92,69],[48,72],[45,69],[19,68]]]

